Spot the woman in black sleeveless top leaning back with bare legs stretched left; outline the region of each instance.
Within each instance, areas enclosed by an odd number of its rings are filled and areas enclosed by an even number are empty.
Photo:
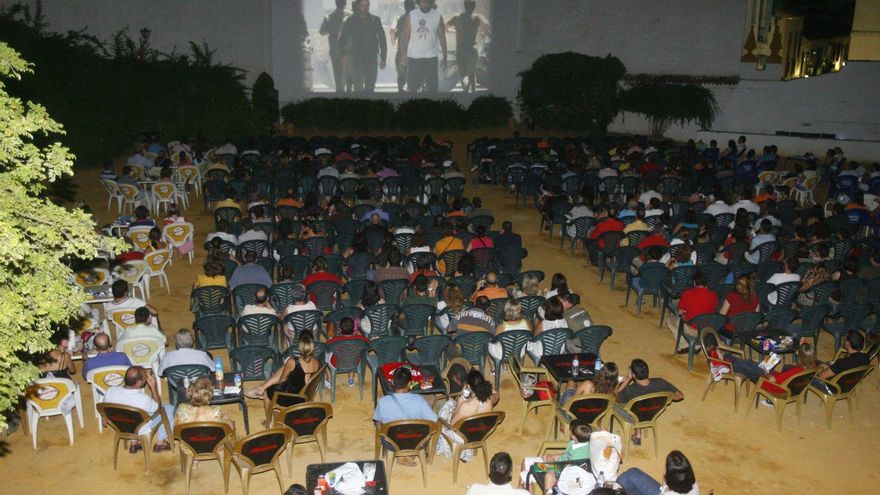
[[[248,398],[263,399],[266,417],[271,412],[269,408],[272,407],[272,396],[275,392],[297,394],[311,380],[319,379],[316,374],[321,363],[315,357],[315,341],[311,332],[303,331],[300,334],[297,351],[299,357],[288,356],[281,368],[272,373],[268,380],[245,392]]]

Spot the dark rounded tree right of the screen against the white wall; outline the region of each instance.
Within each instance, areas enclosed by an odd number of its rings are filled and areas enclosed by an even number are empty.
[[[626,67],[611,55],[543,55],[519,74],[520,109],[544,129],[604,130],[619,111],[617,96],[625,74]]]

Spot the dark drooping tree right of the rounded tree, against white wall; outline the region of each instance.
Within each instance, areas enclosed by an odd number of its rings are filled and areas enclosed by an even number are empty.
[[[695,84],[638,84],[621,94],[623,110],[651,121],[651,134],[660,136],[670,124],[695,122],[709,127],[718,113],[712,91]]]

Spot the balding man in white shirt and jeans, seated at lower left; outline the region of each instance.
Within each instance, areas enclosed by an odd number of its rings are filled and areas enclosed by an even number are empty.
[[[125,371],[125,380],[122,385],[110,387],[104,394],[104,402],[113,404],[122,404],[125,406],[136,407],[145,411],[149,415],[153,415],[159,410],[162,403],[162,397],[159,395],[159,389],[156,387],[156,375],[152,370],[145,370],[140,366],[131,366]],[[174,417],[174,406],[166,404],[166,418]],[[156,425],[162,422],[162,416],[158,415],[145,424],[138,434],[146,434]],[[168,432],[165,431],[165,425],[159,428],[156,435],[158,441],[153,447],[153,452],[164,452],[171,450],[171,444],[168,443]],[[131,442],[128,451],[136,454],[143,446],[140,442]]]

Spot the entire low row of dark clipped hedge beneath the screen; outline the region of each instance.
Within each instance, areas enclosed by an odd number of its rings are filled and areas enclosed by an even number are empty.
[[[285,105],[281,116],[307,130],[455,130],[505,126],[513,108],[496,96],[481,96],[467,110],[453,100],[408,100],[395,108],[387,100],[309,98]]]

